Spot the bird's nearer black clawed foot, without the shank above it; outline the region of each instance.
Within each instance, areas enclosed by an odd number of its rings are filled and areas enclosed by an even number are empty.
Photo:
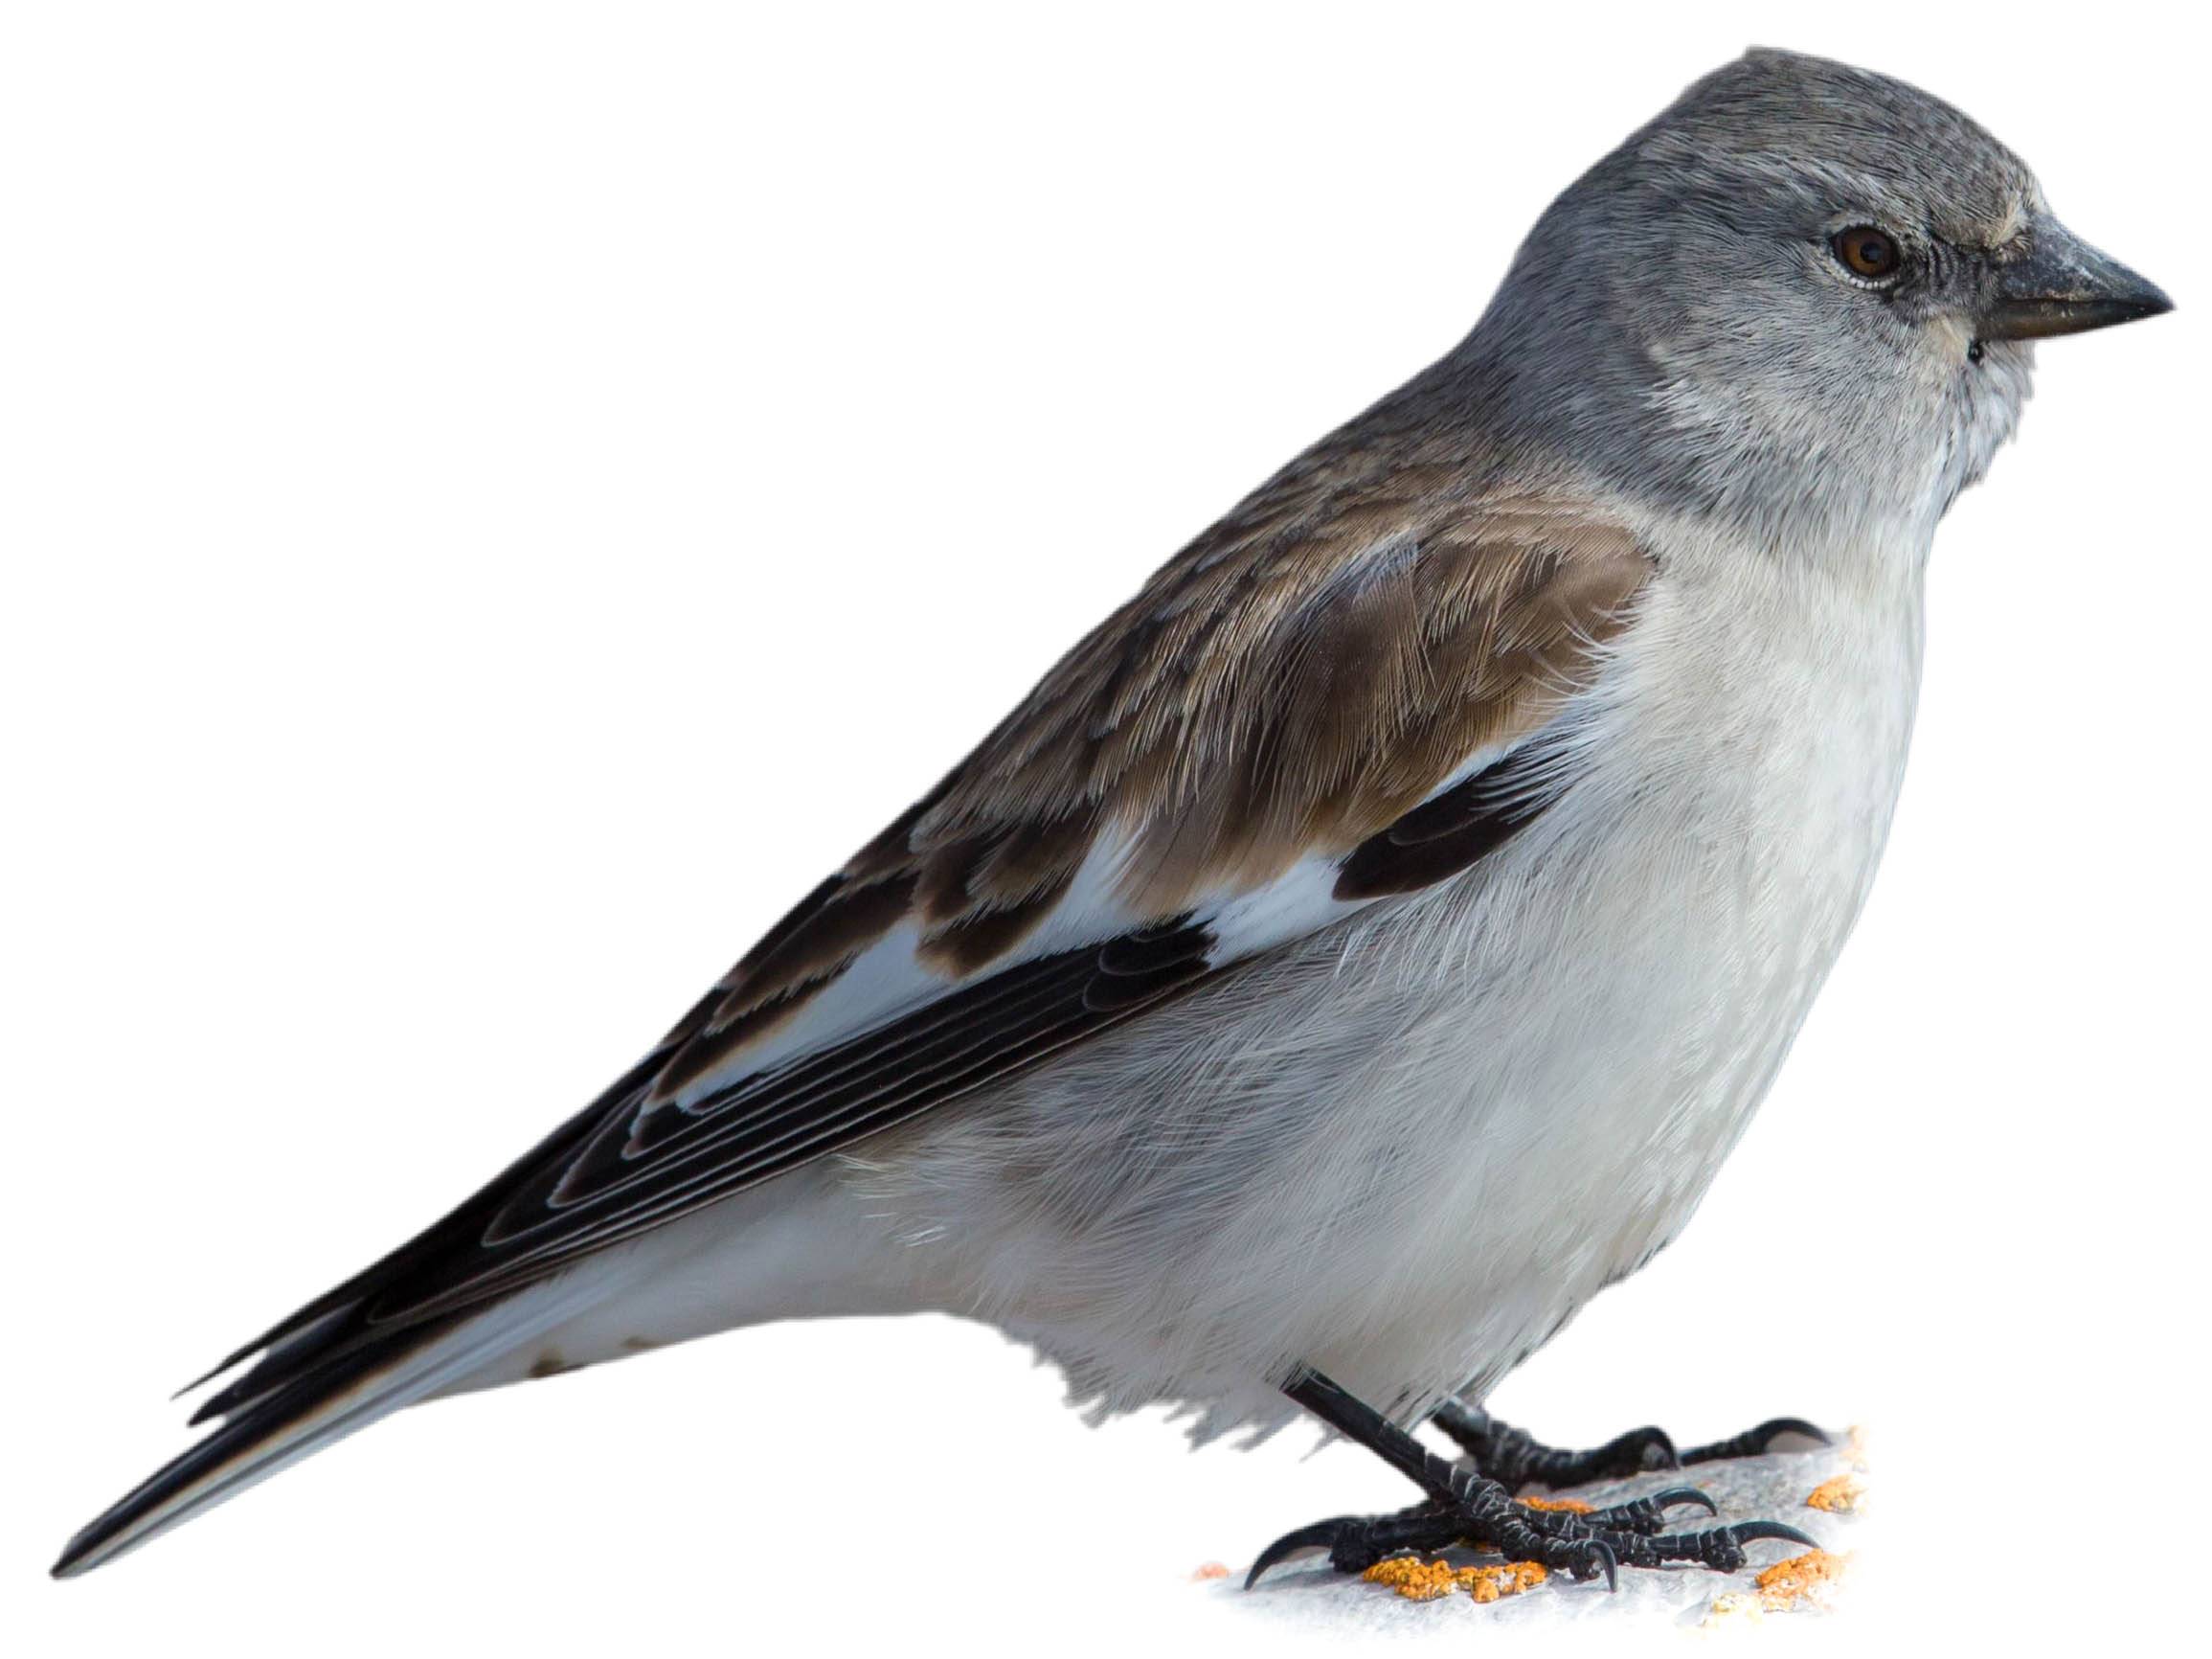
[[[1586,1515],[1564,1509],[1531,1509],[1495,1480],[1455,1471],[1449,1498],[1431,1498],[1394,1515],[1338,1515],[1301,1526],[1261,1551],[1245,1588],[1259,1584],[1276,1562],[1307,1548],[1325,1548],[1338,1573],[1365,1573],[1376,1562],[1405,1551],[1440,1551],[1469,1544],[1498,1551],[1509,1562],[1537,1562],[1551,1573],[1577,1579],[1604,1577],[1606,1588],[1619,1588],[1621,1566],[1668,1566],[1694,1562],[1717,1573],[1734,1573],[1745,1562],[1743,1546],[1759,1540],[1783,1540],[1816,1548],[1814,1540],[1781,1522],[1736,1522],[1703,1533],[1661,1533],[1666,1511],[1674,1504],[1712,1500],[1694,1486],[1674,1486],[1652,1498],[1639,1498]]]

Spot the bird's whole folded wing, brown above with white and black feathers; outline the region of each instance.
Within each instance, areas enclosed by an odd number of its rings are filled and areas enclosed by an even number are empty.
[[[232,1356],[237,1413],[411,1327],[1444,880],[1573,783],[1648,564],[1566,500],[1316,451],[1186,549],[584,1113]]]

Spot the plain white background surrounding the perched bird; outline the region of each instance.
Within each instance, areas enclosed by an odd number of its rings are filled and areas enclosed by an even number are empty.
[[[13,1652],[1272,1632],[1190,1571],[1389,1473],[1091,1431],[942,1321],[407,1413],[40,1575],[168,1387],[624,1068],[1752,40],[1960,102],[2181,312],[2044,347],[1856,942],[1697,1225],[1498,1407],[1871,1422],[1858,1635],[2201,1575],[2197,64],[2141,11],[7,11]]]

